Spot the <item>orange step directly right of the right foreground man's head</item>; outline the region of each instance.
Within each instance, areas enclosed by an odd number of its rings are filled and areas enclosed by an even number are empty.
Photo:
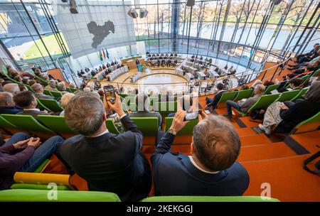
[[[258,161],[297,155],[286,144],[274,143],[259,146],[242,146],[237,161]]]

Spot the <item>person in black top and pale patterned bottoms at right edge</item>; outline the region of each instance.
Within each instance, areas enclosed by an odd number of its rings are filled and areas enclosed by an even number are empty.
[[[271,104],[259,128],[267,135],[272,133],[272,126],[277,126],[275,129],[277,133],[289,133],[294,126],[318,112],[320,112],[320,82],[316,81],[306,92],[305,99],[297,99],[296,103],[286,101]]]

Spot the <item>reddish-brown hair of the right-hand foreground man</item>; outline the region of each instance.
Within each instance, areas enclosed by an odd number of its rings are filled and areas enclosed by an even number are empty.
[[[210,171],[223,171],[240,153],[240,137],[225,117],[211,115],[193,128],[196,157]]]

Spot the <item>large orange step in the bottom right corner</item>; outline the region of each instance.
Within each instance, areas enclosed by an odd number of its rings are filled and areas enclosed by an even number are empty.
[[[262,184],[267,183],[271,197],[280,201],[319,202],[320,178],[302,168],[309,156],[242,162],[250,175],[250,185],[244,195],[260,196],[264,190]]]

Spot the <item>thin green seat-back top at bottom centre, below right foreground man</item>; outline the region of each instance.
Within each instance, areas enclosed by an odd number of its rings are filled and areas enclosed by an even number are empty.
[[[144,198],[142,202],[280,202],[274,198],[255,196],[159,196]]]

